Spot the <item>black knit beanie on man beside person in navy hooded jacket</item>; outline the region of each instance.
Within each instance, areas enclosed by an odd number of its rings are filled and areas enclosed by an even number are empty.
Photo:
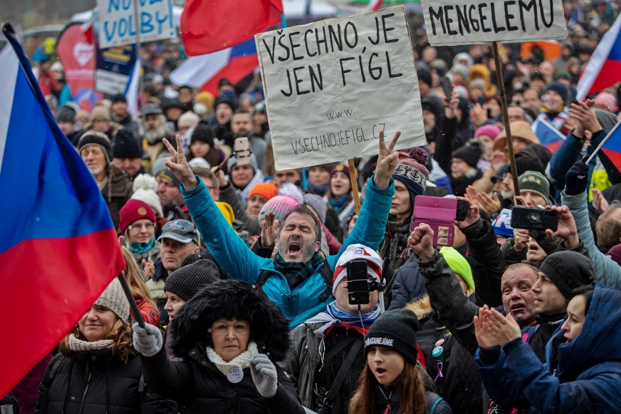
[[[574,297],[574,289],[590,285],[596,278],[595,268],[588,257],[574,251],[556,252],[543,260],[539,267],[567,300]]]

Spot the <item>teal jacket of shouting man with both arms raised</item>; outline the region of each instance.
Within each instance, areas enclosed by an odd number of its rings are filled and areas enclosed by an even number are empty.
[[[307,277],[293,290],[289,288],[283,274],[274,270],[274,260],[265,259],[254,254],[243,240],[235,234],[222,213],[215,206],[205,185],[197,178],[199,185],[193,190],[185,191],[181,185],[181,193],[188,206],[196,227],[209,251],[214,255],[224,270],[233,279],[255,283],[263,270],[270,270],[273,275],[263,285],[263,291],[281,308],[284,315],[291,319],[289,326],[295,328],[325,310],[328,303],[334,300],[330,295],[326,300],[319,298],[326,290],[324,279],[319,274],[321,266],[315,269],[311,277]],[[366,187],[358,221],[350,235],[343,242],[340,251],[327,257],[327,262],[334,271],[338,257],[350,244],[364,244],[376,250],[384,239],[384,229],[388,221],[388,212],[394,194],[392,178],[386,190],[379,190],[373,184],[373,177]]]

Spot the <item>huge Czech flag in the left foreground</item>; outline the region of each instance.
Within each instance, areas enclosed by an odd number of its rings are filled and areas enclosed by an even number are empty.
[[[125,267],[101,191],[58,128],[10,25],[0,51],[0,397]]]

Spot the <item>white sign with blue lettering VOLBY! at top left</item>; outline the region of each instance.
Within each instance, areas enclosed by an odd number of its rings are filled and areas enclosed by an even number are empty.
[[[136,2],[138,19],[136,19]],[[99,48],[175,37],[172,0],[97,0]]]

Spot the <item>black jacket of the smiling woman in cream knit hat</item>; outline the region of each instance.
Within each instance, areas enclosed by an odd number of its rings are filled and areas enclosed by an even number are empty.
[[[35,413],[175,414],[176,403],[152,392],[141,377],[135,354],[127,362],[111,349],[57,354],[43,375]]]

